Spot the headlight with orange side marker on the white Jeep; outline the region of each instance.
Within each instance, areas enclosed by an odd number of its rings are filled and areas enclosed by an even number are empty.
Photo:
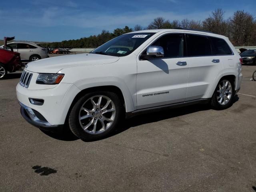
[[[64,74],[46,74],[40,73],[36,79],[36,84],[59,84]]]

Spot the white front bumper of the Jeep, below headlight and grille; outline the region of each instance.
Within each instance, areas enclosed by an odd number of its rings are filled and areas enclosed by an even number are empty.
[[[32,83],[30,83],[31,88],[34,87]],[[25,109],[25,112],[27,113],[25,114],[26,117],[29,117],[29,120],[32,120],[36,126],[51,127],[63,125],[70,105],[73,102],[74,97],[79,92],[80,90],[74,84],[64,83],[60,83],[54,88],[43,90],[29,90],[20,84],[17,84],[16,86],[18,101],[22,104],[22,108]],[[44,103],[42,105],[35,105],[30,102],[29,98],[42,99],[44,100]],[[24,110],[22,110],[22,112],[23,111]],[[33,115],[31,111],[40,114],[39,116],[42,116],[42,119],[45,122],[48,122],[48,124],[42,124],[42,122],[39,122],[40,124],[38,125],[38,121],[33,120],[33,116],[29,115],[28,112]],[[24,114],[22,116],[24,117]],[[27,120],[27,118],[25,119]]]

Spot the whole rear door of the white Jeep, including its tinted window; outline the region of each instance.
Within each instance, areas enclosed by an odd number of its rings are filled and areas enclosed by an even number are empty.
[[[213,55],[208,36],[186,34],[190,63],[186,101],[205,98],[212,82],[222,70],[222,56]]]

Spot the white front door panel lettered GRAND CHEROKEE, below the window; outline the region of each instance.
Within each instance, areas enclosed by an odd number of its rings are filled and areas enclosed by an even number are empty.
[[[179,61],[186,61],[187,65],[178,66]],[[184,102],[188,80],[186,58],[138,60],[137,64],[138,109]]]

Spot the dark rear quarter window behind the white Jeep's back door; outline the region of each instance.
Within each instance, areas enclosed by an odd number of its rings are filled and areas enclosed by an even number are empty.
[[[224,39],[210,37],[213,45],[212,53],[214,55],[232,55],[232,51]]]

